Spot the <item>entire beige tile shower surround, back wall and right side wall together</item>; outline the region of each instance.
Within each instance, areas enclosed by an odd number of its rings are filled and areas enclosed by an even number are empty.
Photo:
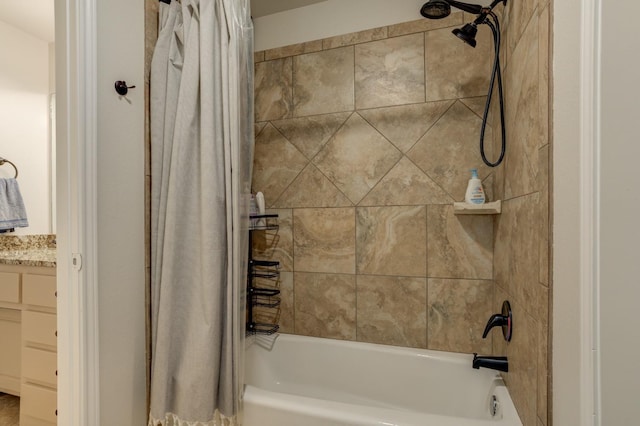
[[[254,251],[282,262],[283,332],[508,355],[524,425],[546,426],[550,6],[497,9],[508,146],[495,169],[478,152],[490,32],[476,49],[451,35],[469,15],[257,52],[253,190],[280,229]],[[502,215],[453,214],[471,168]],[[483,340],[505,299],[513,341]]]

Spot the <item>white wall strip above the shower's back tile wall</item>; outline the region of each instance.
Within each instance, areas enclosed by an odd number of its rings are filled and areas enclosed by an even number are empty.
[[[426,0],[327,0],[254,19],[257,52],[421,19]],[[393,3],[393,4],[391,4]]]

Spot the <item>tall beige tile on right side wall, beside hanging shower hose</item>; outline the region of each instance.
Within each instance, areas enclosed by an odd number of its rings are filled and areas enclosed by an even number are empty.
[[[534,16],[505,73],[507,150],[505,198],[537,190],[540,110],[538,18]]]

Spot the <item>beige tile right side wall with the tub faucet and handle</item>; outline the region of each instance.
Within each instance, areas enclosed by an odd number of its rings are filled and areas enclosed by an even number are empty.
[[[550,0],[509,2],[503,25],[508,151],[496,174],[504,200],[494,230],[494,310],[509,299],[515,329],[506,380],[525,426],[551,424]]]

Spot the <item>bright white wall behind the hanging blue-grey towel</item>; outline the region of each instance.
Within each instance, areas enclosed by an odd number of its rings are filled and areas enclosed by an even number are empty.
[[[0,157],[18,167],[29,219],[16,234],[48,234],[49,43],[0,21]],[[0,177],[13,177],[9,164]]]

